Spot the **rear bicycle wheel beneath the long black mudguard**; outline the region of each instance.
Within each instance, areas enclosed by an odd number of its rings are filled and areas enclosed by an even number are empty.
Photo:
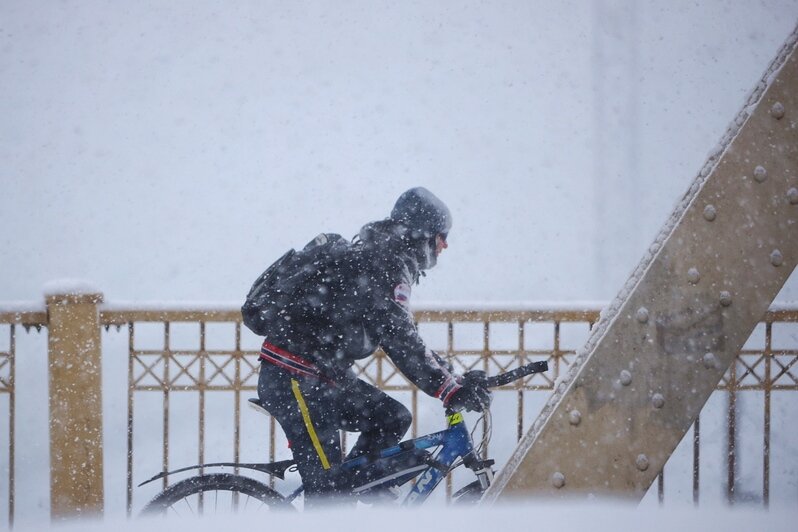
[[[204,497],[207,496],[210,499],[211,493],[216,494],[216,504],[214,505],[214,510],[216,511],[214,513],[219,513],[219,493],[225,494],[225,499],[229,495],[231,501],[234,501],[232,502],[234,508],[231,508],[231,511],[239,510],[240,501],[238,501],[238,498],[241,495],[247,497],[245,508],[250,499],[255,499],[262,506],[266,506],[268,510],[294,509],[285,497],[255,479],[229,473],[213,473],[187,478],[172,484],[148,502],[142,509],[141,515],[163,515],[170,513],[170,509],[174,510],[174,513],[178,515],[182,515],[186,510],[194,515],[209,513],[205,510]],[[194,501],[192,506],[192,498],[194,496],[196,496],[196,501]],[[208,502],[210,503],[210,500]],[[180,511],[178,511],[178,507]]]

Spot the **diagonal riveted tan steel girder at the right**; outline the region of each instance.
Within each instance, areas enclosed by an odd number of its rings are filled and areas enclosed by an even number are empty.
[[[640,500],[798,261],[798,28],[484,502]]]

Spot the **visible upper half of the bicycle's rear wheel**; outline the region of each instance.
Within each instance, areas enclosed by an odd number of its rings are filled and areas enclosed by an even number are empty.
[[[147,503],[142,515],[262,513],[294,507],[257,480],[228,473],[192,477],[173,484]]]

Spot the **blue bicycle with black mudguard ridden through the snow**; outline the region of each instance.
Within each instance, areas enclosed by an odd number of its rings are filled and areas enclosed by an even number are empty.
[[[488,377],[487,385],[489,388],[497,388],[527,375],[547,370],[548,363],[546,361],[532,362],[506,373]],[[268,414],[258,399],[249,399],[249,401],[253,406]],[[410,491],[399,502],[405,506],[421,504],[449,472],[460,465],[465,465],[474,472],[477,478],[454,493],[452,499],[456,503],[478,501],[482,493],[490,486],[494,475],[491,469],[494,461],[480,460],[478,457],[482,446],[490,437],[490,410],[486,409],[484,415],[487,416],[488,430],[485,431],[483,442],[479,447],[474,447],[472,432],[469,432],[466,427],[463,415],[446,409],[446,429],[402,441],[393,447],[383,449],[377,457],[359,456],[343,462],[342,470],[351,475],[351,496],[362,500],[369,494],[384,494],[392,488],[398,488],[416,479]],[[437,449],[437,451],[433,453],[428,449]],[[283,480],[286,471],[295,468],[295,463],[293,460],[282,460],[254,464],[216,462],[194,465],[159,473],[139,484],[139,487],[175,473],[209,467],[236,467],[255,470]],[[266,484],[244,475],[201,474],[168,486],[147,503],[142,510],[142,515],[166,514],[170,510],[180,515],[184,509],[192,514],[203,514],[206,510],[206,502],[210,502],[211,494],[213,494],[215,511],[219,511],[220,494],[222,494],[223,505],[229,505],[233,511],[247,511],[251,500],[260,504],[256,508],[258,511],[264,507],[267,510],[290,510],[295,509],[292,503],[302,491],[303,488],[300,485],[291,493],[283,495]],[[242,499],[244,499],[243,504]]]

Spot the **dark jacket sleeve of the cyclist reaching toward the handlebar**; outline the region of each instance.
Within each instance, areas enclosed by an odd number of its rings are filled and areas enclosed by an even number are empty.
[[[398,283],[392,292],[375,302],[374,335],[405,377],[446,405],[461,386],[451,367],[419,336],[409,309],[409,284]]]

